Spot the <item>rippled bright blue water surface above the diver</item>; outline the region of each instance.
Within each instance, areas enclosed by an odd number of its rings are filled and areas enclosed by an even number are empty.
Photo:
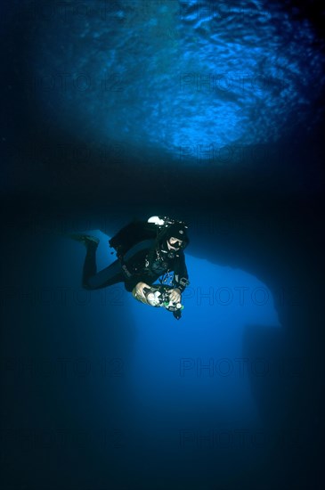
[[[320,95],[324,59],[313,29],[275,5],[102,5],[54,11],[35,39],[37,98],[85,142],[223,166],[236,161],[219,155],[224,147],[277,141],[304,124]]]

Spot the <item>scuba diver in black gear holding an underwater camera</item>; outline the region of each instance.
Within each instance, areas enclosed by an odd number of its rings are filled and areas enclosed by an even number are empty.
[[[147,222],[126,225],[109,241],[110,247],[116,250],[117,260],[98,273],[99,239],[87,234],[70,234],[70,238],[86,247],[83,287],[98,290],[124,282],[135,299],[149,306],[164,306],[179,320],[182,293],[190,283],[183,253],[189,244],[187,228],[183,221],[168,216],[151,216]],[[159,284],[154,284],[157,280]]]

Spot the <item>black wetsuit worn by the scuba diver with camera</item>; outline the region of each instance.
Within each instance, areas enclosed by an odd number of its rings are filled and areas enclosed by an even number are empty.
[[[97,273],[96,244],[89,244],[83,271],[83,286],[98,290],[118,282],[124,282],[132,291],[138,282],[151,285],[163,274],[174,272],[173,286],[181,292],[188,282],[183,250],[170,253],[164,243],[157,241],[157,225],[134,222],[126,225],[111,240],[117,250],[118,260]]]

